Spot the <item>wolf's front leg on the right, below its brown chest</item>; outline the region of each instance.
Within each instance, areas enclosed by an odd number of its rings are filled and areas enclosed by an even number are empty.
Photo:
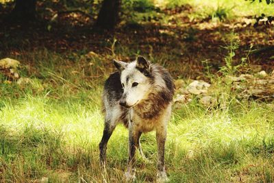
[[[166,143],[166,127],[161,126],[156,129],[156,140],[158,145],[158,175],[157,182],[168,181],[166,176],[166,169],[164,166],[164,146]]]

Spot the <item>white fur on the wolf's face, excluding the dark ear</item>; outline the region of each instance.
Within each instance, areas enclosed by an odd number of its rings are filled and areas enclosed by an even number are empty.
[[[132,86],[134,82],[138,85]],[[121,83],[124,85],[127,106],[135,106],[147,96],[151,88],[149,78],[136,69],[136,62],[129,63],[121,72]]]

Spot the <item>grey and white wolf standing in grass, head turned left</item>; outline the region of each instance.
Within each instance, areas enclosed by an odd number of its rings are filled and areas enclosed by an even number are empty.
[[[123,123],[129,130],[129,157],[125,178],[134,180],[136,149],[143,156],[140,136],[155,130],[158,145],[157,180],[164,182],[168,180],[164,147],[175,88],[173,79],[166,69],[158,64],[151,64],[143,56],[138,56],[129,63],[117,60],[113,62],[118,71],[108,77],[103,89],[105,123],[99,143],[100,161],[105,164],[108,140],[116,125]]]

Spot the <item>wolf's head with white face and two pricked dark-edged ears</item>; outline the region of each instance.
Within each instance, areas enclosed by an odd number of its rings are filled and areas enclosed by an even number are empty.
[[[131,108],[138,104],[149,93],[151,87],[151,64],[144,57],[125,63],[114,60],[114,65],[121,75],[123,95],[120,105]]]

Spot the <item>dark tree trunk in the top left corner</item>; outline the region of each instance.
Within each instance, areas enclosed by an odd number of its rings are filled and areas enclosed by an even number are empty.
[[[36,18],[36,0],[16,0],[11,21],[33,21]]]

